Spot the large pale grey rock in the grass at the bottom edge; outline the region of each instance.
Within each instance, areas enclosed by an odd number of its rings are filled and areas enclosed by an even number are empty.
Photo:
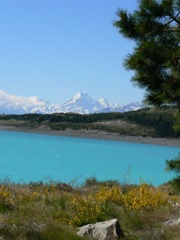
[[[81,237],[90,236],[95,240],[116,240],[124,237],[118,219],[84,225],[77,234]]]

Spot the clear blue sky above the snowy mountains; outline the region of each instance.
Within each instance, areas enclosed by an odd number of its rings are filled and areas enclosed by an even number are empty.
[[[60,104],[79,91],[141,101],[123,67],[134,43],[113,27],[118,8],[133,11],[137,0],[0,1],[0,89]]]

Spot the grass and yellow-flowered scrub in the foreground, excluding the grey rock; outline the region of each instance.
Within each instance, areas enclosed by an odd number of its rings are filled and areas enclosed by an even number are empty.
[[[0,236],[18,240],[78,240],[77,227],[118,218],[127,240],[175,240],[178,226],[163,223],[180,215],[180,195],[168,185],[155,188],[86,180],[81,187],[63,183],[2,182]]]

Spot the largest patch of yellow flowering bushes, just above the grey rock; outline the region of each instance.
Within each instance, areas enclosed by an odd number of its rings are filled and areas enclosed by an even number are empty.
[[[59,212],[59,220],[69,225],[81,226],[83,224],[98,221],[107,213],[106,203],[110,209],[116,206],[125,206],[127,209],[138,210],[149,207],[165,206],[169,204],[168,195],[148,184],[129,186],[123,193],[118,185],[100,187],[98,192],[89,193],[86,196],[70,194],[68,200],[69,214]],[[108,214],[111,214],[108,211]],[[114,214],[114,213],[112,213]]]

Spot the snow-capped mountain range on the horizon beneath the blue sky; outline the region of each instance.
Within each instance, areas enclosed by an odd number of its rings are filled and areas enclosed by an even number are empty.
[[[40,100],[36,96],[20,97],[0,90],[0,114],[51,114],[57,112],[91,114],[102,112],[127,112],[138,110],[142,107],[142,104],[139,102],[121,106],[119,104],[112,104],[104,98],[94,100],[87,92],[76,93],[64,104],[52,104]]]

